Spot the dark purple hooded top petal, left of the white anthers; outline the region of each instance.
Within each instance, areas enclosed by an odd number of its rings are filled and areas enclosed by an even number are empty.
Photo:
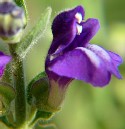
[[[55,17],[52,24],[53,42],[49,49],[49,54],[64,49],[74,40],[77,33],[77,22],[79,19],[81,21],[80,16],[82,19],[84,18],[84,9],[82,6],[64,11]]]

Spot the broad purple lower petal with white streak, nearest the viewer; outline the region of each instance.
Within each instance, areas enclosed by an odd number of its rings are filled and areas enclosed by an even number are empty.
[[[48,70],[59,76],[89,82],[94,86],[109,83],[111,74],[91,50],[79,47],[51,61]]]

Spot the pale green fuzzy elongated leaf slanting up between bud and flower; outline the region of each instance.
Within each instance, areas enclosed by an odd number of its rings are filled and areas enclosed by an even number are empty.
[[[34,44],[36,44],[37,41],[45,33],[47,26],[49,24],[51,12],[51,8],[48,7],[40,17],[39,21],[36,23],[36,25],[22,39],[20,44],[18,44],[16,52],[18,55],[20,55],[21,58],[24,58],[26,56],[26,54],[30,51]]]

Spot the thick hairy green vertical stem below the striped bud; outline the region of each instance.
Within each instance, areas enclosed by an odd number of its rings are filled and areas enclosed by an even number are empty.
[[[21,127],[26,122],[26,95],[23,60],[15,53],[16,44],[9,45],[12,61],[13,83],[16,90],[15,119],[16,126]]]

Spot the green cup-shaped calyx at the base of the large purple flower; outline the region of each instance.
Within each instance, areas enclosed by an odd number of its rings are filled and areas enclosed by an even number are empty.
[[[28,86],[28,103],[35,105],[38,111],[55,113],[60,110],[60,102],[58,102],[60,95],[55,96],[55,100],[52,100],[54,102],[50,102],[50,97],[52,97],[51,95],[53,94],[51,92],[53,92],[53,90],[51,89],[47,75],[41,73],[36,76]]]

